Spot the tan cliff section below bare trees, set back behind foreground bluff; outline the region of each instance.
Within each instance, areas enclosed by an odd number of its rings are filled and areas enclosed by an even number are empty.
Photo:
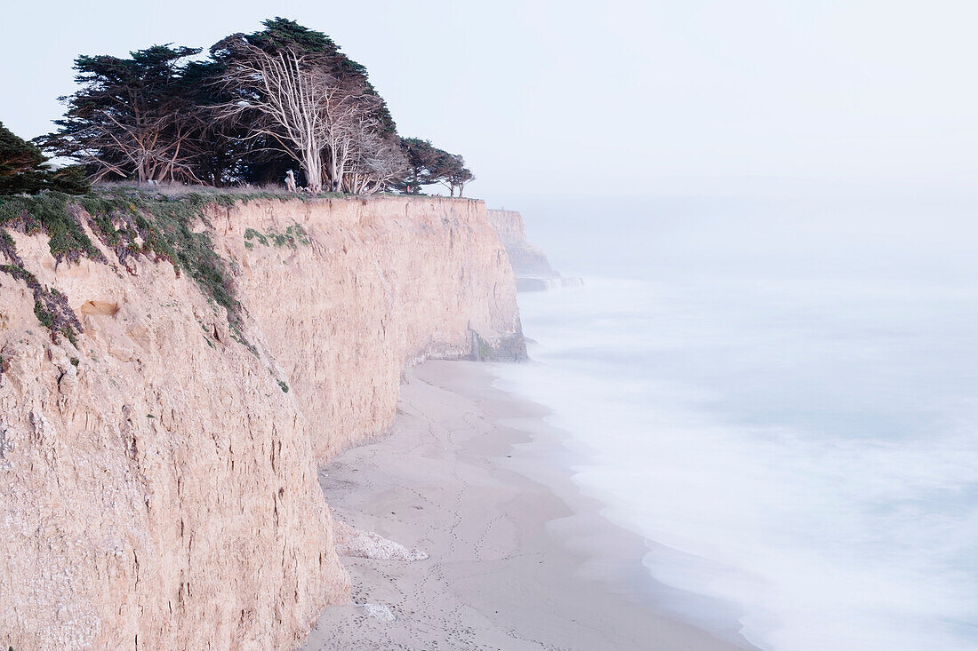
[[[242,261],[237,293],[294,385],[321,461],[390,425],[406,363],[526,355],[482,201],[258,201],[213,221]],[[295,226],[309,243],[276,246]]]

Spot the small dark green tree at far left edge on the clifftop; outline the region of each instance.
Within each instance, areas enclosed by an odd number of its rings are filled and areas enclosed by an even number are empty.
[[[48,157],[37,146],[18,138],[0,122],[0,195],[36,195],[43,190],[81,195],[88,189],[81,167],[51,169]]]

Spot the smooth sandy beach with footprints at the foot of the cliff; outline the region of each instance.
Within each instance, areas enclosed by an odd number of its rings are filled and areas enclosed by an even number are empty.
[[[577,491],[546,411],[491,383],[472,363],[410,369],[393,431],[320,469],[337,521],[422,559],[344,556],[352,603],[303,648],[751,648],[651,606],[645,541]]]

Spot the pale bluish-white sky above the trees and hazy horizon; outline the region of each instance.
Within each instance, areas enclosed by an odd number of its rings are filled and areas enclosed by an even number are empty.
[[[936,0],[18,2],[0,121],[50,129],[79,54],[209,47],[273,16],[367,65],[470,195],[858,187],[971,194],[978,4]]]

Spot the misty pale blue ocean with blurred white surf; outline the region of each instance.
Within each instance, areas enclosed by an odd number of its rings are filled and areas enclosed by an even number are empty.
[[[523,216],[585,284],[520,294],[532,361],[495,371],[553,411],[645,571],[703,597],[664,608],[722,604],[773,651],[978,649],[978,203]]]

